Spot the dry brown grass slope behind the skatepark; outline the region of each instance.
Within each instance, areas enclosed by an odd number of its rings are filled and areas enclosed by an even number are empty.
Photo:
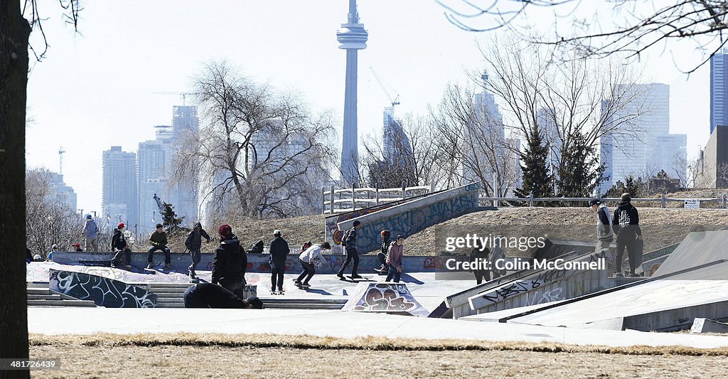
[[[689,231],[728,227],[728,211],[724,210],[639,207],[639,212],[640,223],[646,229],[645,252],[681,242]],[[231,225],[244,247],[258,239],[267,245],[277,228],[283,231],[291,246],[298,247],[308,240],[323,241],[324,222],[324,215],[311,215],[285,220],[234,220]],[[530,231],[541,231],[555,239],[594,241],[595,222],[593,212],[587,207],[502,207],[496,211],[472,212],[409,236],[408,247],[411,248],[405,248],[405,254],[436,255],[442,249],[435,245],[435,234],[454,234],[483,226],[496,227],[505,233],[509,228],[530,226]],[[207,231],[214,238],[217,228],[207,226]],[[170,237],[173,251],[184,251],[183,242],[183,236]],[[213,252],[215,247],[216,243],[202,244],[202,252]]]

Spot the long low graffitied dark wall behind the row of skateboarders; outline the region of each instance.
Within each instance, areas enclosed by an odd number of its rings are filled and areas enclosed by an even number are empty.
[[[53,253],[53,261],[65,265],[87,265],[87,266],[108,266],[108,262],[113,257],[110,252],[92,253],[92,252],[55,252]],[[132,253],[132,266],[146,267],[146,252]],[[344,263],[346,258],[341,254],[325,254],[324,257],[328,264],[316,268],[317,274],[336,274]],[[186,273],[187,267],[192,263],[189,254],[175,253],[171,255],[172,268],[174,271]],[[372,273],[374,268],[379,268],[379,260],[376,255],[360,255],[359,273]],[[163,262],[164,254],[155,253],[154,262]],[[441,258],[425,255],[405,255],[403,257],[403,265],[405,272],[434,272],[438,268],[443,267]],[[210,271],[213,269],[213,255],[202,254],[202,260],[197,265],[197,270]],[[347,272],[351,271],[351,266]],[[248,254],[248,272],[270,272],[268,266],[267,254]],[[288,255],[285,262],[285,272],[288,274],[300,273],[301,263],[298,261],[298,254]]]

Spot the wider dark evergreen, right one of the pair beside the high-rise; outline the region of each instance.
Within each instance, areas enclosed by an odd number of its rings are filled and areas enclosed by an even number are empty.
[[[571,136],[571,145],[562,152],[558,167],[558,194],[565,197],[588,197],[604,181],[604,165],[599,164],[596,148],[587,145],[584,135]]]

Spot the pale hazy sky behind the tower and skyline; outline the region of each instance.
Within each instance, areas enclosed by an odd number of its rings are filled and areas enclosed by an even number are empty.
[[[476,43],[488,34],[456,28],[435,1],[357,3],[369,33],[359,52],[360,140],[381,133],[389,105],[370,68],[399,95],[397,114],[425,113],[448,83],[485,68]],[[154,92],[189,91],[211,61],[298,92],[313,111],[333,112],[341,135],[345,52],[336,30],[346,22],[347,0],[83,1],[78,33],[55,2],[41,5],[50,47],[28,76],[27,165],[58,172],[63,146],[64,180],[84,213],[101,209],[102,152],[112,145],[136,151],[154,139],[154,125],[169,125],[173,105],[181,105],[178,95]],[[539,20],[553,19],[552,11],[539,12]],[[31,41],[39,46],[37,34]],[[686,76],[673,57],[692,57],[694,47],[676,49],[643,57],[643,79],[670,85],[670,132],[688,135],[691,159],[709,137],[709,68]]]

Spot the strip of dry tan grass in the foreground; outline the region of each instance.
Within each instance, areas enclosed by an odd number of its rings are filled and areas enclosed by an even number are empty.
[[[723,378],[725,350],[273,335],[31,335],[33,378]]]

